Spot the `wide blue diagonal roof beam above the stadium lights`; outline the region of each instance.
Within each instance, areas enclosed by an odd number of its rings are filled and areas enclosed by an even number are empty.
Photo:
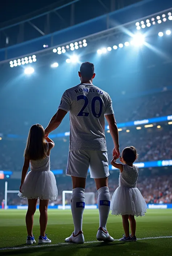
[[[113,4],[114,2],[112,2],[112,5]],[[4,63],[13,60],[17,56],[26,56],[27,54],[30,54],[31,51],[28,52],[28,48],[33,49],[32,53],[46,53],[47,51],[51,52],[52,49],[57,46],[67,44],[67,42],[77,41],[78,39],[76,38],[87,39],[102,37],[103,34],[111,36],[112,31],[117,31],[120,28],[121,33],[122,27],[135,23],[136,21],[143,19],[143,17],[150,17],[151,15],[161,13],[164,10],[163,7],[167,7],[165,11],[172,9],[171,3],[169,3],[168,0],[164,0],[163,3],[161,0],[141,1],[117,11],[106,13],[105,15],[96,17],[92,20],[62,29],[61,31],[46,34],[42,37],[22,42],[15,46],[0,49],[0,62]],[[144,16],[140,16],[140,13]],[[44,44],[49,45],[50,47],[42,49]]]

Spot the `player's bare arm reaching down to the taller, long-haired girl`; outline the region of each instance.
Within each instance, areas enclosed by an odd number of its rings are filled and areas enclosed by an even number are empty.
[[[58,109],[57,113],[53,115],[48,126],[45,128],[45,137],[47,137],[46,135],[54,131],[61,124],[66,114],[67,111]]]

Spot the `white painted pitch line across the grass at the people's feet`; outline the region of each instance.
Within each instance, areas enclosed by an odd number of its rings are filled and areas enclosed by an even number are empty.
[[[144,237],[144,238],[137,238],[137,240],[148,240],[148,239],[160,239],[160,238],[172,238],[172,236],[156,236],[156,237]],[[114,239],[114,241],[119,241],[119,239]],[[84,244],[90,244],[90,243],[100,243],[99,241],[87,241]],[[103,243],[103,242],[101,242]],[[58,243],[58,244],[46,244],[43,245],[45,248],[50,246],[58,246],[58,245],[71,245],[71,243]],[[0,248],[0,251],[5,250],[20,250],[20,249],[28,249],[28,248],[42,248],[42,245],[33,245],[33,246],[22,246],[22,247],[4,247]]]

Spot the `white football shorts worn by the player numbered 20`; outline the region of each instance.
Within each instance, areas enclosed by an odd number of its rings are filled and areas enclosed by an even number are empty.
[[[66,175],[100,179],[109,176],[107,151],[73,150],[69,152]]]

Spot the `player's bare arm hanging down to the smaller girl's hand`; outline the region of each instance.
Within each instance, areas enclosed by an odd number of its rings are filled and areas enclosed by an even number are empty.
[[[115,116],[114,114],[110,114],[110,115],[105,115],[106,120],[108,122],[109,125],[109,130],[110,130],[110,134],[112,136],[112,139],[114,141],[114,150],[113,150],[113,157],[115,155],[115,153],[118,155],[120,155],[119,152],[119,134],[118,134],[118,127],[116,124],[116,120],[115,120]]]

